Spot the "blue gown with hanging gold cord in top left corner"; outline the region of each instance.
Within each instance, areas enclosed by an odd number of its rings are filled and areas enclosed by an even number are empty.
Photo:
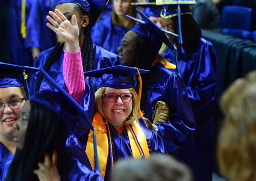
[[[21,34],[22,1],[11,0],[8,19],[8,63],[32,66],[32,47],[39,47],[39,8],[37,1],[26,0],[26,38]]]

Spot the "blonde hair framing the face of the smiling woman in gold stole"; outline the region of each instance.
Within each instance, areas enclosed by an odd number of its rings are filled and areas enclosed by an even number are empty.
[[[102,115],[103,119],[108,122],[109,120],[107,119],[106,115],[103,112],[102,109],[102,99],[103,99],[103,94],[106,90],[106,87],[101,87],[95,92],[95,105],[98,110],[98,112]],[[132,98],[132,112],[131,114],[127,117],[125,120],[125,125],[129,125],[134,121],[137,121],[139,119],[138,115],[138,109],[139,109],[139,101],[138,101],[138,95],[136,91],[134,91],[133,88],[129,88],[129,91],[133,94]]]

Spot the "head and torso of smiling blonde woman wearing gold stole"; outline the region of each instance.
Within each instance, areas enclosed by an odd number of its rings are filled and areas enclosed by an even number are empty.
[[[139,69],[139,72],[148,71]],[[152,152],[165,152],[161,137],[139,121],[143,117],[139,109],[140,91],[137,95],[133,89],[133,75],[137,74],[137,68],[120,65],[85,73],[99,77],[95,93],[97,111],[92,125],[96,128],[100,172],[104,180],[111,180],[114,164],[121,158],[147,158]],[[92,131],[85,137],[87,143],[84,145],[89,159],[86,166],[93,169],[91,134]]]

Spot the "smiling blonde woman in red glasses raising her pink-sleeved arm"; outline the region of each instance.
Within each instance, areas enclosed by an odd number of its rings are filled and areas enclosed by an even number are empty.
[[[61,12],[55,12],[56,16],[64,18]],[[64,25],[65,23],[66,25]],[[138,121],[143,114],[139,109],[138,95],[132,88],[133,76],[131,76],[131,74],[137,74],[137,69],[126,67],[116,71],[114,69],[116,67],[109,67],[83,74],[77,41],[76,17],[72,16],[71,23],[68,21],[65,23],[59,26],[59,31],[63,31],[61,37],[68,45],[63,60],[66,90],[77,102],[80,102],[86,89],[84,85],[80,85],[84,82],[84,75],[98,78],[96,81],[98,90],[95,93],[97,110],[91,120],[96,128],[100,171],[105,180],[110,180],[114,163],[118,159],[130,156],[134,158],[149,157],[151,152],[163,153],[164,145],[157,133]],[[70,28],[66,28],[68,25]],[[74,70],[77,72],[76,78],[70,76]],[[93,108],[92,105],[89,106],[90,109]],[[82,135],[80,136],[82,139],[78,137],[76,147],[84,150],[81,153],[78,149],[71,148],[69,149],[70,154],[81,159],[80,155],[86,151],[88,162],[83,162],[83,164],[94,170],[92,132],[89,132],[89,128],[83,122],[78,125],[77,128],[80,130],[79,135]]]

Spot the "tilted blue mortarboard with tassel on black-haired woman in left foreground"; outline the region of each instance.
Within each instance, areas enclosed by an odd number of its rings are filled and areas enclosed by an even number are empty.
[[[31,98],[31,101],[36,101],[38,103],[41,103],[42,105],[47,105],[47,107],[55,112],[57,115],[60,116],[60,119],[66,120],[66,126],[68,128],[73,129],[74,128],[74,121],[72,119],[76,119],[79,117],[79,119],[85,121],[87,125],[90,127],[90,129],[93,130],[93,147],[95,151],[95,169],[100,171],[99,169],[99,161],[98,161],[98,152],[97,152],[97,138],[95,133],[95,128],[91,124],[91,120],[89,119],[88,111],[82,108],[78,103],[62,88],[58,85],[58,83],[55,82],[51,78],[51,76],[44,71],[43,68],[40,68],[40,72],[43,74],[44,78],[48,83],[55,87],[58,90],[58,93],[50,93],[49,95],[42,96],[44,93],[40,93],[35,95],[35,97]],[[85,82],[85,91],[86,96],[89,97],[91,95],[94,95],[90,89],[90,86],[87,82]],[[58,94],[58,95],[56,95]],[[44,100],[44,102],[43,102]],[[88,99],[87,99],[88,100]],[[56,103],[55,106],[52,106],[53,102]],[[91,107],[90,107],[91,106]],[[94,108],[94,105],[87,105],[87,109]],[[67,112],[67,113],[65,113]]]

